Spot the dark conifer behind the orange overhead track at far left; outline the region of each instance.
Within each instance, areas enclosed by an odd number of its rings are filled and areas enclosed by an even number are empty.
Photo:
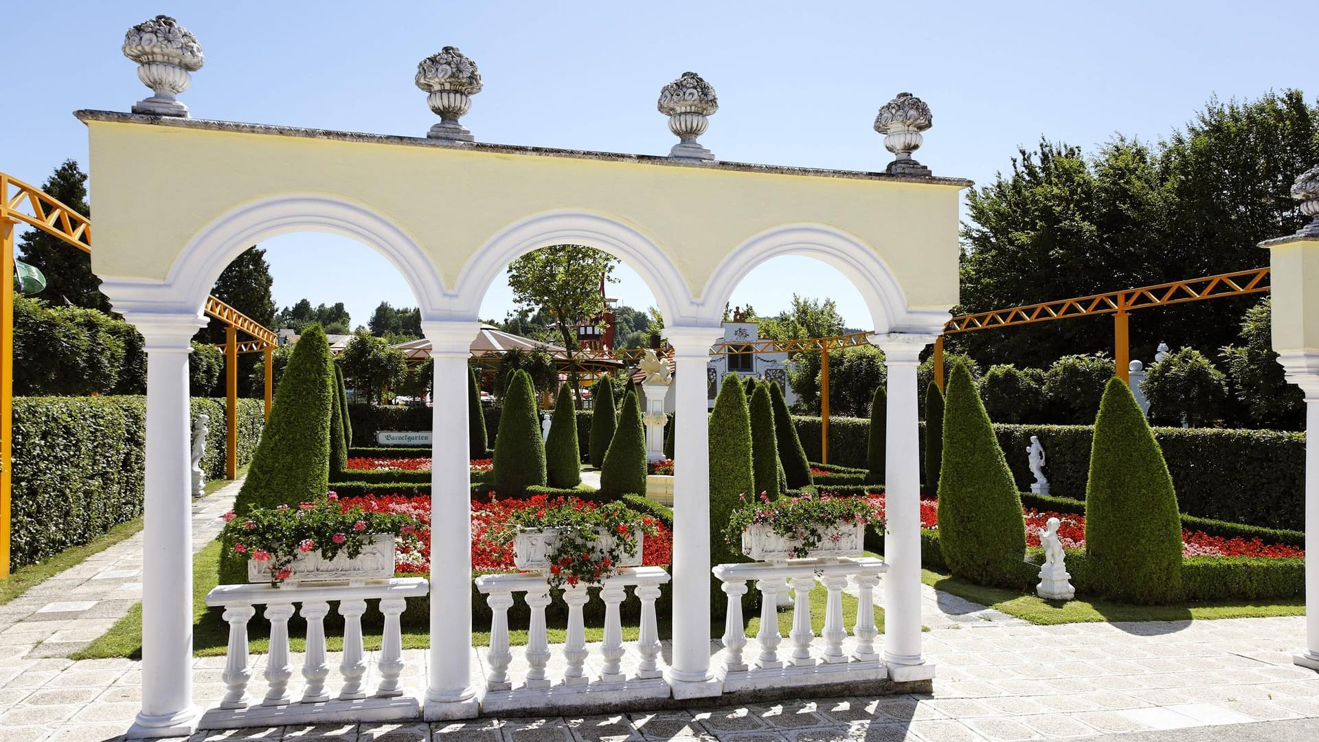
[[[65,160],[46,178],[41,190],[83,217],[91,215],[87,206],[87,174],[75,160]],[[100,293],[100,279],[91,272],[91,256],[62,239],[32,230],[18,240],[18,257],[34,265],[46,276],[42,297],[57,304],[73,304],[87,309],[109,312],[109,298]]]

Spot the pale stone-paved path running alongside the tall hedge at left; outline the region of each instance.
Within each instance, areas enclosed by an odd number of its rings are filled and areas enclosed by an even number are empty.
[[[193,552],[220,532],[243,481],[193,503]],[[142,599],[142,532],[92,555],[0,606],[4,658],[67,658]]]

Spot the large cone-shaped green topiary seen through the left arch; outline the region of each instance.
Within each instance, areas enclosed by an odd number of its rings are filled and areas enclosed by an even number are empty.
[[[334,375],[319,325],[302,331],[274,392],[270,420],[233,502],[235,512],[323,496],[330,482]]]

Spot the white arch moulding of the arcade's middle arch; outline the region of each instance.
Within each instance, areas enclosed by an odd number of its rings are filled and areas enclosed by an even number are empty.
[[[545,211],[492,236],[458,276],[455,312],[476,317],[495,277],[517,257],[551,244],[586,244],[625,261],[650,287],[666,325],[690,323],[695,301],[673,259],[638,228],[605,214]]]

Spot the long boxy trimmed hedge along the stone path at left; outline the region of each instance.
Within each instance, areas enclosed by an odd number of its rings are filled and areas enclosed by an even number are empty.
[[[193,399],[211,417],[202,470],[224,475],[224,400]],[[261,400],[239,400],[237,463],[261,437]],[[146,399],[15,397],[9,568],[83,545],[142,514]]]

